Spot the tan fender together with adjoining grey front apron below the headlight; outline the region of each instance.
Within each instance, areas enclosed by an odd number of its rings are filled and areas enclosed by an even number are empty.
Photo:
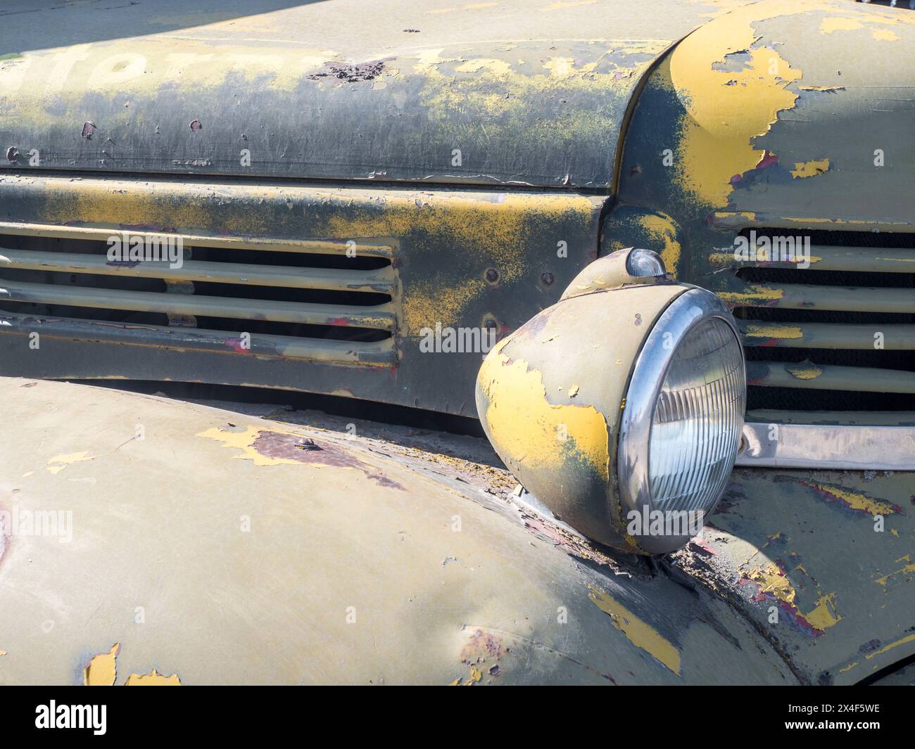
[[[904,476],[737,471],[652,574],[470,438],[0,397],[0,683],[849,683],[915,650]]]

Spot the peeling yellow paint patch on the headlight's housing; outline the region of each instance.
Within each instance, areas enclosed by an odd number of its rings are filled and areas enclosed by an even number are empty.
[[[581,460],[607,481],[609,435],[603,415],[590,405],[549,402],[540,372],[502,353],[510,341],[500,341],[479,371],[492,443],[501,455],[532,465],[558,469],[565,460]]]

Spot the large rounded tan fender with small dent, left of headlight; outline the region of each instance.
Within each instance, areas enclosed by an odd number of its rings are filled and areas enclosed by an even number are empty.
[[[716,594],[608,558],[446,444],[80,384],[0,400],[0,683],[798,680]],[[38,512],[71,512],[70,540],[30,535]]]

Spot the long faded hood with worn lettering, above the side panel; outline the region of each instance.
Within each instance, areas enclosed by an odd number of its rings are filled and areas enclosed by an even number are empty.
[[[40,5],[0,25],[7,169],[606,189],[644,71],[744,3]]]

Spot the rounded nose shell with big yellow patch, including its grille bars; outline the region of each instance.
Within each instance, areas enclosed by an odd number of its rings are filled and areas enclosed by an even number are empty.
[[[915,114],[915,64],[904,54],[912,43],[912,14],[837,0],[767,0],[684,38],[640,92],[601,253],[632,245],[659,251],[678,279],[720,294],[747,318],[748,358],[779,359],[780,368],[802,369],[804,358],[818,369],[855,368],[856,352],[877,349],[876,333],[887,352],[908,350],[910,326],[903,324],[915,307],[900,276],[915,271],[915,244],[900,234],[915,228],[915,155],[890,134],[904,132]],[[741,269],[798,267],[738,261],[738,232],[755,229],[789,238],[855,231],[867,242],[858,234],[833,245],[814,239],[809,270],[742,279]],[[873,281],[812,277],[823,271],[867,273]],[[842,314],[828,323],[815,317],[834,311]],[[875,323],[868,317],[874,314],[898,317]],[[789,359],[782,362],[765,346],[813,351],[796,360],[780,352]],[[840,359],[824,355],[827,348],[852,350]],[[910,372],[894,374],[910,359],[883,356],[834,383],[867,392],[893,380],[890,390],[910,392],[899,384]],[[779,384],[791,390],[825,387],[826,380],[788,374]],[[771,401],[771,388],[751,388],[750,395],[753,408],[789,401]],[[870,410],[873,402],[856,407]],[[899,402],[900,411],[910,409]],[[840,421],[854,418],[848,412]]]

